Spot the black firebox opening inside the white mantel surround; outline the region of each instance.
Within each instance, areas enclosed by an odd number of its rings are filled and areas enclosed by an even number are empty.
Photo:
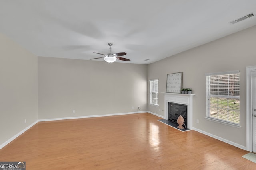
[[[168,102],[168,120],[172,121],[173,123],[177,123],[177,119],[180,115],[183,117],[183,119],[185,121],[185,123],[184,123],[185,128],[188,127],[187,105],[186,104],[178,104],[178,103]]]

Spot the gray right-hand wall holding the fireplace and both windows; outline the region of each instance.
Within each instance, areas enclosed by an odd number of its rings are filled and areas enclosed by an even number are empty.
[[[196,41],[196,40],[195,40]],[[159,91],[166,92],[166,76],[183,72],[183,87],[192,88],[193,126],[246,146],[246,66],[256,65],[256,26],[148,65],[148,79],[159,78]],[[240,70],[240,129],[206,120],[205,73]],[[161,111],[159,111],[159,108]],[[164,94],[159,107],[148,110],[164,116]],[[196,119],[199,123],[196,123]]]

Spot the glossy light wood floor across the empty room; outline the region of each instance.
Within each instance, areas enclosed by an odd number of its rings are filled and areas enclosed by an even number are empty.
[[[149,113],[39,122],[0,150],[27,170],[250,170],[248,153]]]

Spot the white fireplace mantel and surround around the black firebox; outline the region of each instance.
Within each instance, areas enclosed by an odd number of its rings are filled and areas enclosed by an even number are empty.
[[[168,120],[168,102],[187,105],[187,124],[188,129],[193,127],[193,96],[195,94],[165,93],[164,94],[164,119]]]

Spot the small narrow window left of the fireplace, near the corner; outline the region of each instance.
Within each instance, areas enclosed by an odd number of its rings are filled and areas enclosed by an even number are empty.
[[[158,80],[149,80],[150,104],[158,106]]]

